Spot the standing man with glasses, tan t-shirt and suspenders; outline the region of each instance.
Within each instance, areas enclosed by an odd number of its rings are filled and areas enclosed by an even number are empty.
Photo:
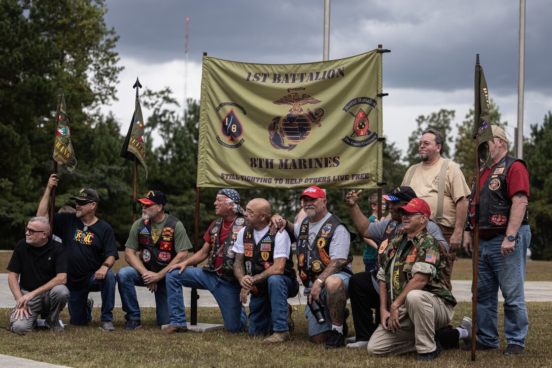
[[[425,130],[418,142],[422,162],[406,171],[401,185],[411,186],[418,198],[428,203],[431,220],[437,222],[447,239],[449,252],[444,275],[445,285],[452,290],[450,278],[456,252],[462,243],[470,188],[458,165],[441,156],[443,145],[443,135],[439,131]]]

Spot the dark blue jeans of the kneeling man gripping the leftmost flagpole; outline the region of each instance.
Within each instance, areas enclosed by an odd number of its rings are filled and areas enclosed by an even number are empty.
[[[92,321],[92,308],[87,305],[88,293],[99,291],[102,296],[102,316],[100,321],[113,321],[113,307],[115,306],[115,274],[108,270],[105,279],[94,280],[90,275],[88,286],[83,289],[69,289],[70,295],[67,308],[71,321],[69,323],[84,326]]]

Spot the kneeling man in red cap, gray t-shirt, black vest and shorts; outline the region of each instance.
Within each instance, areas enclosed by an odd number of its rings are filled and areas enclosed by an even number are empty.
[[[326,349],[345,346],[347,305],[351,260],[349,246],[355,234],[326,209],[326,193],[310,186],[300,196],[307,217],[294,225],[274,215],[274,226],[293,231],[297,238],[299,277],[305,286],[304,295],[325,305],[326,319],[319,324],[310,308],[305,308],[309,336],[314,343],[326,343]],[[347,314],[347,315],[346,315]]]

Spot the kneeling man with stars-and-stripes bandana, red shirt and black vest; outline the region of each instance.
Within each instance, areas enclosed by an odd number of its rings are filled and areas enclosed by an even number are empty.
[[[216,194],[215,214],[219,216],[205,232],[203,247],[192,257],[169,266],[167,270],[167,299],[169,326],[161,333],[187,332],[182,286],[209,290],[219,304],[226,329],[241,332],[247,315],[240,301],[240,283],[234,276],[235,253],[232,250],[237,233],[245,226],[240,195],[233,189],[221,189]],[[207,259],[203,268],[186,268]]]

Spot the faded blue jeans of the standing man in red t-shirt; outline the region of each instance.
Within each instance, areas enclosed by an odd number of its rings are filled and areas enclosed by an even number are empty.
[[[498,287],[504,297],[504,334],[508,344],[525,346],[529,318],[525,305],[524,282],[527,248],[531,241],[529,225],[519,227],[514,251],[502,258],[504,236],[479,239],[477,262],[477,341],[498,347]]]

